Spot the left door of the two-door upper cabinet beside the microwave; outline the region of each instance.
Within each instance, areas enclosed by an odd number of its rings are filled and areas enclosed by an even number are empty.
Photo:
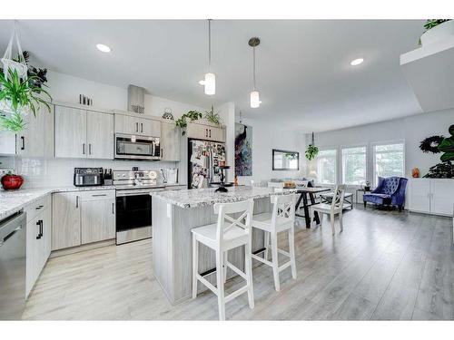
[[[85,158],[86,111],[55,106],[55,157]]]

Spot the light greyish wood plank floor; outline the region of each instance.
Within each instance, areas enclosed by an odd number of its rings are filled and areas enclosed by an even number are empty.
[[[302,222],[302,221],[301,221]],[[344,232],[298,228],[297,274],[253,270],[247,296],[227,305],[236,320],[454,319],[452,219],[362,209],[344,215]],[[281,239],[286,248],[286,239]],[[227,283],[227,290],[242,285]],[[171,306],[153,277],[150,240],[51,258],[28,299],[24,319],[217,320],[217,299],[203,293]]]

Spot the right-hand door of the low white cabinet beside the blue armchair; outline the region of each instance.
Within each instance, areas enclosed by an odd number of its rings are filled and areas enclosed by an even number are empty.
[[[430,180],[430,212],[432,214],[452,214],[454,205],[454,180]]]

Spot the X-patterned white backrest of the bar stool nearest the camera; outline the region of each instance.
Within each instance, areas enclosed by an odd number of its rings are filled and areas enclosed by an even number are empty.
[[[216,238],[220,245],[223,243],[224,235],[233,227],[242,228],[245,235],[252,237],[253,208],[253,199],[214,204],[214,213],[218,215]]]

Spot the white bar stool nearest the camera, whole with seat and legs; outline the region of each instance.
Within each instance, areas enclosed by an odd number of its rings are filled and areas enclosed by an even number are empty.
[[[248,293],[249,306],[254,307],[252,288],[252,230],[253,199],[235,203],[216,203],[214,213],[218,215],[217,223],[192,228],[192,298],[197,296],[197,281],[202,282],[218,296],[219,319],[225,320],[225,304],[233,298]],[[232,218],[232,214],[240,215]],[[236,216],[238,216],[236,215]],[[216,252],[216,287],[199,274],[199,242]],[[228,251],[244,246],[245,272],[227,260]],[[246,286],[224,295],[224,282],[227,267],[246,280]]]

